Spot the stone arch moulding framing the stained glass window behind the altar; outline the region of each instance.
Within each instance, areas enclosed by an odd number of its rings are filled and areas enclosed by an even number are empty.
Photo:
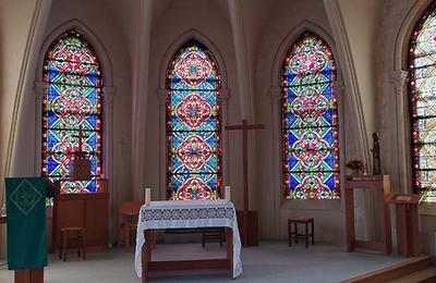
[[[227,184],[229,182],[229,138],[226,131],[223,131],[223,126],[229,122],[229,99],[230,91],[227,88],[228,86],[228,77],[227,77],[227,67],[225,64],[225,60],[219,52],[218,48],[214,45],[211,40],[209,40],[205,35],[199,33],[196,29],[189,29],[182,35],[180,35],[172,44],[169,46],[167,51],[164,54],[161,60],[161,64],[159,67],[159,78],[158,86],[159,88],[156,90],[156,95],[158,97],[159,102],[159,197],[160,199],[166,199],[167,197],[167,131],[166,131],[166,102],[169,95],[169,90],[167,89],[167,69],[171,63],[171,60],[174,58],[174,54],[190,40],[197,41],[203,45],[206,49],[210,51],[214,56],[218,71],[221,76],[221,87],[219,89],[219,96],[221,99],[221,164],[222,164],[222,184]]]

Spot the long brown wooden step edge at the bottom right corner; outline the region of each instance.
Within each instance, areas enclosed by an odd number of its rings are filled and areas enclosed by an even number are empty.
[[[423,255],[405,259],[401,262],[395,263],[392,266],[379,270],[371,271],[362,275],[341,281],[341,283],[361,283],[361,282],[385,283],[391,280],[400,279],[401,276],[409,275],[411,273],[426,269],[428,267],[433,267],[433,263],[434,259],[431,256]]]

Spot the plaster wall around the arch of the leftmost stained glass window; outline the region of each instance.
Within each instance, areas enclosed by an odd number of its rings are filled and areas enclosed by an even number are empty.
[[[125,38],[120,30],[118,22],[114,21],[114,16],[110,10],[108,10],[102,1],[68,1],[59,0],[55,1],[50,10],[49,21],[45,29],[45,35],[41,35],[41,41],[48,38],[59,26],[72,21],[78,20],[93,33],[97,40],[102,44],[102,50],[99,52],[107,53],[108,62],[112,67],[112,73],[107,74],[109,69],[102,70],[105,78],[111,78],[105,81],[105,87],[117,88],[113,97],[113,115],[112,115],[112,137],[110,140],[105,140],[107,145],[112,147],[112,159],[106,160],[112,165],[113,174],[108,175],[108,172],[104,172],[110,180],[111,194],[111,213],[117,216],[117,204],[119,200],[131,199],[132,194],[130,189],[131,181],[131,70],[130,70],[130,58],[125,45]],[[60,34],[59,34],[60,35]],[[57,35],[57,36],[59,36]],[[86,35],[85,37],[90,37]],[[95,47],[96,49],[96,47]],[[37,58],[45,56],[46,50],[40,50]],[[97,52],[98,53],[98,52]],[[101,61],[101,58],[100,58]],[[39,62],[41,63],[41,61]],[[13,65],[13,64],[11,64]],[[28,77],[28,82],[40,81],[43,65],[38,64],[32,72],[33,75]],[[13,168],[15,175],[40,175],[40,155],[36,153],[40,150],[40,123],[37,123],[37,108],[40,106],[36,104],[36,94],[28,91],[25,94],[27,97],[22,101],[21,109],[22,115],[19,119],[20,131],[15,142],[15,152],[13,157]],[[108,109],[104,109],[108,112]],[[3,123],[2,123],[3,124]],[[104,130],[105,131],[105,130]],[[105,136],[105,133],[104,133]],[[109,148],[108,148],[109,149]],[[107,150],[108,151],[108,150]],[[108,152],[104,152],[108,155]],[[104,168],[106,165],[104,164]],[[111,219],[112,234],[117,231],[117,218]]]

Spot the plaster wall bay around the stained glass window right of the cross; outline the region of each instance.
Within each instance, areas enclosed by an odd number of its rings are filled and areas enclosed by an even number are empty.
[[[295,11],[299,11],[295,13]],[[268,15],[267,24],[263,27],[258,39],[258,52],[255,62],[255,120],[266,124],[266,131],[256,133],[257,140],[257,173],[256,184],[258,189],[257,204],[259,208],[261,237],[263,238],[286,238],[287,237],[287,220],[290,217],[314,217],[316,241],[323,241],[332,244],[344,243],[344,211],[343,198],[341,200],[313,201],[313,200],[286,200],[283,197],[282,180],[281,180],[281,156],[275,157],[277,152],[281,155],[281,140],[275,144],[272,128],[274,124],[280,125],[280,112],[274,114],[272,103],[275,100],[270,97],[271,93],[277,90],[279,86],[279,73],[275,72],[274,66],[281,64],[283,58],[278,54],[280,47],[288,45],[289,49],[300,34],[295,30],[317,30],[319,36],[330,45],[334,50],[336,63],[338,65],[338,79],[341,79],[341,62],[339,52],[332,39],[332,32],[328,16],[326,14],[323,2],[320,1],[277,1],[272,12]],[[359,24],[365,25],[366,20],[359,19]],[[304,27],[306,26],[306,27]],[[314,30],[315,29],[315,30]],[[356,30],[354,30],[356,32]],[[362,40],[370,40],[373,34],[361,35]],[[293,37],[290,40],[290,37]],[[287,41],[288,40],[288,41]],[[367,48],[370,46],[366,45]],[[283,54],[284,56],[284,54]],[[276,58],[275,58],[276,57]],[[363,59],[362,59],[363,60]],[[364,72],[371,73],[366,65]],[[363,84],[363,83],[362,83]],[[364,87],[373,89],[371,82],[364,82]],[[347,88],[339,99],[340,111],[340,159],[341,172],[346,174],[343,163],[351,158],[361,158],[359,155],[360,133],[355,131],[358,115],[355,114],[354,104]],[[371,100],[371,99],[370,99]],[[370,103],[365,107],[368,115],[375,111],[374,104]],[[280,110],[279,110],[280,111]],[[365,116],[366,116],[365,112]],[[280,127],[280,126],[279,126]],[[280,128],[279,133],[280,134]],[[278,165],[277,165],[277,164]],[[280,172],[276,172],[280,171]],[[341,188],[343,196],[343,188]],[[356,235],[366,238],[368,235],[368,225],[372,225],[372,219],[366,217],[367,208],[365,208],[364,196],[359,195],[356,200]]]

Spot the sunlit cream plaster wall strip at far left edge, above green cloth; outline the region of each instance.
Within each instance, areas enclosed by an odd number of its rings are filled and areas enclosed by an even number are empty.
[[[13,1],[0,2],[0,204],[3,204],[4,183],[3,177],[11,173],[8,168],[11,164],[13,152],[12,127],[14,118],[19,116],[19,101],[24,96],[24,86],[29,60],[26,58],[32,52],[35,40],[34,32],[38,34],[38,20],[41,12],[38,11],[40,1]],[[47,2],[49,5],[50,3]],[[32,60],[31,60],[32,61]],[[4,256],[5,229],[0,225],[0,257]]]

